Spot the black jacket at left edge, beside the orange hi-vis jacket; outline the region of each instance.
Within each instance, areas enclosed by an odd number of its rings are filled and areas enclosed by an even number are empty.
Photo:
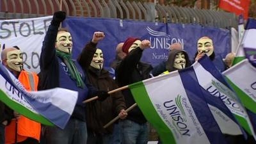
[[[13,110],[0,101],[0,125],[5,120],[8,121],[8,124],[10,124],[12,118],[14,118]]]

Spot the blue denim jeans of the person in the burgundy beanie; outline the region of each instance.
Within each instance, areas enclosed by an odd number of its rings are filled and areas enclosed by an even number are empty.
[[[122,120],[122,144],[147,144],[148,125],[138,124],[131,120]]]

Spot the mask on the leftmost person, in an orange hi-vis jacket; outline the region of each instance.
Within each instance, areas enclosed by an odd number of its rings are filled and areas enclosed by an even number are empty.
[[[8,51],[6,53],[6,63],[8,67],[17,72],[23,69],[22,52],[20,50]]]

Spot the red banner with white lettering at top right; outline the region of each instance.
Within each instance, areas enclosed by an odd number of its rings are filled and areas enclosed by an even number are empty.
[[[228,12],[243,14],[244,19],[248,19],[250,0],[220,0],[219,7]]]

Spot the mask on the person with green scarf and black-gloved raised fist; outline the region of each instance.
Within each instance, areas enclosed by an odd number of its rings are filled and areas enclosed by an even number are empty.
[[[56,38],[56,49],[62,52],[71,53],[72,51],[72,37],[66,31],[60,31]]]

